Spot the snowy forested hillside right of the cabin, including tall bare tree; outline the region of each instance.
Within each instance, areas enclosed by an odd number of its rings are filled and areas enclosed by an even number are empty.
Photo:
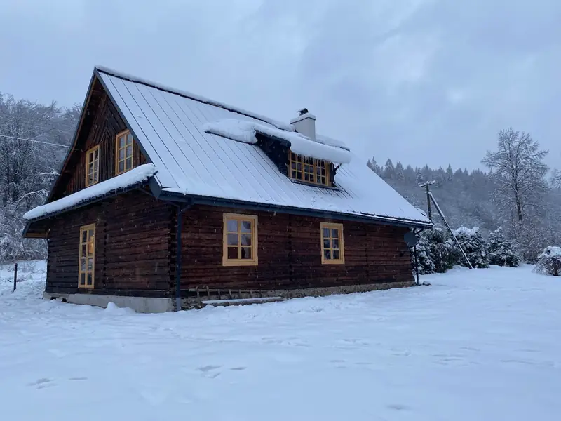
[[[388,159],[367,165],[417,206],[427,210],[426,192],[419,187],[435,181],[431,191],[453,228],[478,227],[487,237],[499,227],[523,260],[535,262],[547,246],[561,244],[561,174],[543,162],[547,151],[528,133],[512,128],[499,132],[497,147],[482,157],[479,169],[404,166]],[[443,227],[433,212],[435,223]]]

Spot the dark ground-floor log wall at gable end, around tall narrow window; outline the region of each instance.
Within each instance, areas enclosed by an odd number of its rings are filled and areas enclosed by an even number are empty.
[[[130,192],[50,220],[48,293],[164,296],[170,289],[171,208]],[[80,227],[95,223],[95,288],[78,288]]]

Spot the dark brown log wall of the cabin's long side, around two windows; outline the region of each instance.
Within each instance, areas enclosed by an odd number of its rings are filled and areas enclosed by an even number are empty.
[[[257,215],[258,266],[222,266],[224,212]],[[406,228],[211,206],[194,206],[183,218],[182,289],[277,290],[412,281],[410,252],[403,240]],[[322,265],[320,222],[343,224],[344,265]]]

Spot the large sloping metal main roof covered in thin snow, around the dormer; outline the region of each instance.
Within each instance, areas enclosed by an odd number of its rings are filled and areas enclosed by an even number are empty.
[[[337,188],[304,185],[280,173],[252,142],[206,131],[217,128],[217,122],[235,120],[238,135],[244,128],[259,128],[301,147],[305,140],[313,142],[297,135],[292,125],[108,69],[98,67],[97,75],[156,164],[154,178],[164,192],[431,225],[342,142],[316,135],[318,142],[309,152],[337,153],[337,159],[330,155],[330,161],[342,163],[334,178]]]

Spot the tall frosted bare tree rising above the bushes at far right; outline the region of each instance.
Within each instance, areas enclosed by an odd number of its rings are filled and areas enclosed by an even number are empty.
[[[548,166],[543,159],[547,150],[529,133],[501,130],[495,152],[487,151],[482,160],[494,180],[493,199],[502,213],[511,215],[511,222],[521,223],[529,209],[539,210],[548,185]]]

